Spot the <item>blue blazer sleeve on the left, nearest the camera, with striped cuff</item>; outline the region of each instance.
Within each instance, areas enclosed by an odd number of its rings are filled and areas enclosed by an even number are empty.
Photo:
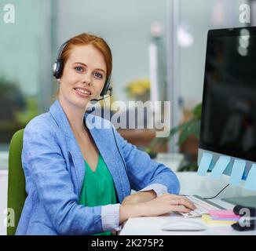
[[[49,126],[44,129],[28,126],[24,130],[22,152],[23,164],[31,173],[38,198],[53,227],[60,235],[90,235],[106,231],[102,226],[101,209],[104,207],[105,216],[106,212],[119,211],[119,207],[108,209],[113,205],[79,205],[78,195],[75,194],[71,176],[55,137]]]

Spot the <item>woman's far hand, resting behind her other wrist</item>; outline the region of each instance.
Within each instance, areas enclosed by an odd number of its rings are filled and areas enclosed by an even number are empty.
[[[139,191],[124,198],[122,205],[135,205],[141,202],[151,201],[153,198],[156,198],[155,191]]]

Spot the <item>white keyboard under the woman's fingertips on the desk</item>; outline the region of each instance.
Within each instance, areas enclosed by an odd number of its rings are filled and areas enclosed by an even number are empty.
[[[185,218],[202,216],[205,213],[209,213],[210,210],[225,209],[222,206],[218,206],[214,202],[209,202],[207,199],[204,199],[198,195],[186,195],[185,197],[196,206],[196,209],[189,213],[177,212],[182,216],[185,216]]]

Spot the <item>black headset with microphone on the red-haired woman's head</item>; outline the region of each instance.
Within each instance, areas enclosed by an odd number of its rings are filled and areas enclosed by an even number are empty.
[[[64,47],[68,44],[69,41],[70,39],[68,39],[68,41],[60,45],[60,49],[57,54],[57,60],[53,64],[53,76],[57,79],[60,79],[62,75],[63,67],[64,67],[63,60],[61,59],[61,54],[63,52]],[[110,86],[110,75],[108,76],[106,82],[104,83],[104,88],[101,91],[101,96],[103,97],[104,95],[106,95],[108,93],[108,90],[110,91],[110,96],[111,96],[112,86]]]

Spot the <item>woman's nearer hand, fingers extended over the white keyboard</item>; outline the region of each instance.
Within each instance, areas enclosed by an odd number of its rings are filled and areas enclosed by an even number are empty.
[[[148,202],[141,202],[135,205],[122,205],[120,207],[120,224],[131,217],[139,216],[160,216],[174,211],[189,213],[196,209],[196,206],[180,195],[164,194],[153,198]]]

